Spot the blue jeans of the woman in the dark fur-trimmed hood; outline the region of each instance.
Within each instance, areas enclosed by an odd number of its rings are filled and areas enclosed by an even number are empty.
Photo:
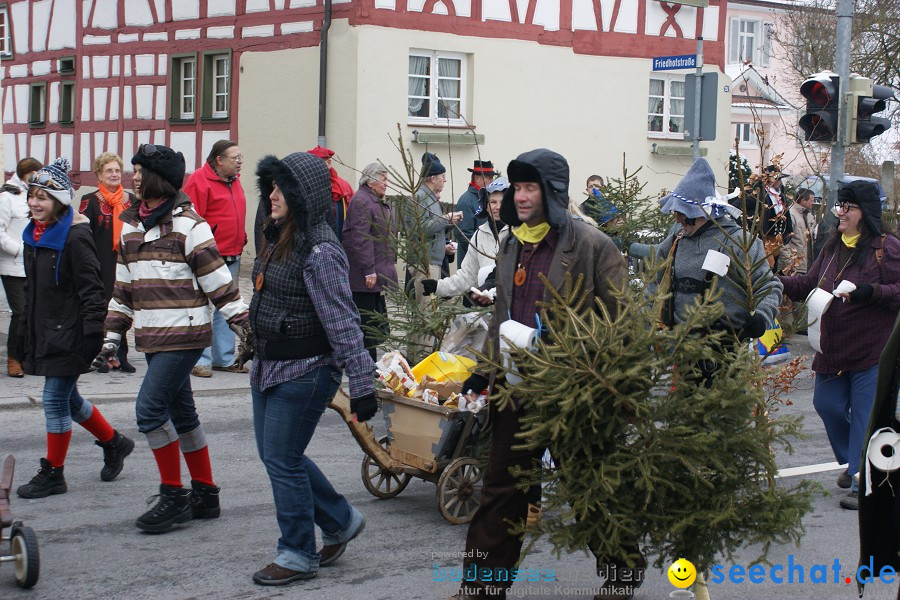
[[[320,367],[265,391],[251,388],[256,447],[272,482],[281,530],[275,563],[286,569],[318,570],[315,525],[325,544],[340,544],[363,520],[304,454],[339,383],[337,370]]]

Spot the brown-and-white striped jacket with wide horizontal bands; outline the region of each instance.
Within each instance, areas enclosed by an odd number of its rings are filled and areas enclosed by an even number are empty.
[[[134,324],[139,352],[205,348],[212,341],[212,302],[225,319],[247,318],[247,305],[209,225],[178,192],[172,211],[149,231],[135,202],[122,213],[116,285],[106,315],[107,337]]]

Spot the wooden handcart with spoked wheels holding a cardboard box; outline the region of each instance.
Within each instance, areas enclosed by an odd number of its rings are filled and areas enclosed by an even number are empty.
[[[347,423],[366,453],[363,485],[373,496],[393,498],[418,477],[437,485],[437,507],[454,525],[468,523],[481,504],[482,464],[473,456],[485,429],[487,410],[478,413],[379,391],[389,436],[380,439],[350,414],[350,400],[338,391],[331,408]]]

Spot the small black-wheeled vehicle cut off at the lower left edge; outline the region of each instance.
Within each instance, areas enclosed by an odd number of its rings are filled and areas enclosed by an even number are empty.
[[[37,583],[40,575],[41,555],[34,529],[22,525],[22,521],[13,521],[12,518],[9,498],[15,470],[16,459],[10,454],[3,460],[3,470],[0,471],[0,563],[13,563],[16,583],[20,587],[30,588]],[[7,541],[9,554],[4,551]]]

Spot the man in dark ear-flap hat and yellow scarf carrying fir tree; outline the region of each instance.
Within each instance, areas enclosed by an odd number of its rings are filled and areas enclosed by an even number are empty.
[[[483,353],[499,360],[500,325],[512,319],[527,327],[540,327],[538,303],[551,299],[541,281],[546,276],[554,292],[565,294],[566,281],[582,278],[585,307],[602,302],[615,314],[614,289],[626,282],[625,260],[612,240],[596,228],[573,220],[569,206],[569,165],[561,155],[540,148],[509,163],[512,184],[503,195],[500,218],[511,227],[501,240],[497,256],[496,309]],[[586,309],[587,310],[587,309]],[[490,390],[497,373],[486,366],[475,369],[463,391]],[[528,468],[542,452],[517,448],[516,434],[526,407],[499,410],[490,405],[493,424],[490,458],[485,470],[481,505],[466,537],[466,569],[478,578],[467,580],[457,597],[504,598],[513,580],[510,571],[519,561],[522,539],[509,533],[510,523],[522,523],[528,498],[510,474],[511,467]],[[490,570],[490,577],[486,574]],[[500,582],[503,583],[500,583]]]

